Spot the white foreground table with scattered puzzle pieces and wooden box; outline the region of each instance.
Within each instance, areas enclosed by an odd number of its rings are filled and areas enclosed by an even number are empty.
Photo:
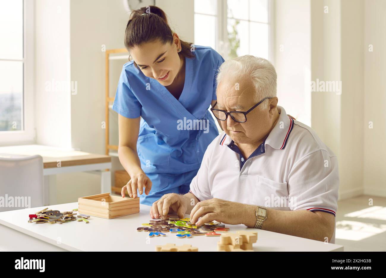
[[[148,238],[148,233],[137,232],[142,223],[151,220],[150,206],[140,205],[140,212],[115,219],[91,216],[90,223],[78,221],[63,224],[28,223],[28,214],[45,207],[5,211],[0,213],[0,250],[3,251],[154,251],[156,245],[191,244],[198,251],[217,251],[218,237],[195,236],[176,238]],[[49,209],[71,211],[78,203],[58,204]],[[189,217],[186,215],[186,217]],[[244,225],[226,225],[230,232],[245,230]],[[332,243],[259,230],[254,251],[343,251],[343,246]]]

